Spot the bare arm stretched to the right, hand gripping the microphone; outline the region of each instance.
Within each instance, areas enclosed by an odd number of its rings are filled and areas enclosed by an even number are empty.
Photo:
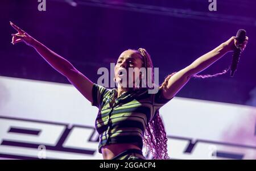
[[[175,73],[168,80],[167,86],[162,87],[163,97],[166,99],[171,99],[172,97],[174,97],[179,92],[179,90],[185,84],[187,84],[187,82],[193,75],[202,72],[204,69],[208,68],[214,62],[224,56],[227,52],[233,51],[236,47],[241,48],[241,51],[243,51],[246,47],[248,37],[246,37],[246,40],[242,44],[238,44],[235,38],[236,37],[234,36],[231,37],[228,41],[222,43],[217,48],[193,61],[191,65]]]

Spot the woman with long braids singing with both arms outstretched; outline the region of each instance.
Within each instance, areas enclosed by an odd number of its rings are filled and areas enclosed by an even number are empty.
[[[191,77],[207,78],[226,73],[227,70],[213,76],[197,75],[227,52],[234,51],[235,48],[243,51],[248,41],[246,37],[242,44],[238,44],[236,37],[230,37],[192,64],[167,76],[157,93],[150,94],[148,91],[152,87],[148,86],[147,76],[150,74],[154,82],[153,71],[147,71],[146,76],[138,71],[138,73],[135,71],[134,74],[129,74],[129,68],[154,69],[151,57],[145,49],[129,49],[121,53],[114,68],[114,80],[118,86],[114,89],[106,89],[90,81],[69,61],[48,49],[19,27],[13,23],[10,24],[18,31],[17,34],[12,34],[13,44],[23,41],[35,48],[49,65],[67,77],[93,106],[98,107],[95,127],[100,135],[98,152],[102,153],[104,159],[144,159],[143,145],[152,152],[154,159],[169,159],[166,132],[159,115],[160,107],[174,98]],[[126,86],[128,83],[123,84],[121,80],[124,74],[127,80],[131,78],[133,86]],[[137,87],[135,85],[137,80],[140,82],[146,80],[146,87]]]

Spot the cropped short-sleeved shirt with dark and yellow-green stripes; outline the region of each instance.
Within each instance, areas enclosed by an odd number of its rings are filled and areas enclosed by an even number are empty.
[[[93,84],[92,106],[98,107],[95,127],[99,134],[98,152],[106,144],[131,143],[142,149],[144,131],[156,112],[171,99],[149,94],[147,88],[127,91],[117,98],[117,89]]]

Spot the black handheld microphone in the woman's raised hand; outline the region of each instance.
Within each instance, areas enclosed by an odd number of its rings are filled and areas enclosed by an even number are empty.
[[[238,41],[237,42],[238,44],[243,43],[243,41],[245,41],[245,39],[246,39],[246,31],[243,29],[238,30],[236,39]],[[234,76],[234,72],[236,72],[236,70],[237,70],[237,64],[240,60],[240,55],[241,55],[241,49],[236,47],[236,49],[234,49],[234,52],[233,52],[233,56],[232,56],[233,60],[232,60],[231,66],[230,66],[230,76],[231,77]]]

